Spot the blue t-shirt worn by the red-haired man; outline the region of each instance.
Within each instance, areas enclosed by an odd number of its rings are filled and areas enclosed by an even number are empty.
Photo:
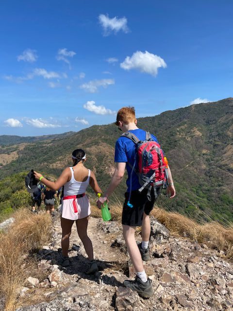
[[[142,129],[136,129],[136,130],[130,130],[129,132],[132,132],[139,140],[145,140],[146,139],[146,131]],[[151,134],[151,138],[158,142],[158,139]],[[134,156],[136,153],[136,148],[134,142],[125,136],[121,136],[116,140],[116,146],[115,146],[115,162],[126,162],[126,170],[128,173],[128,179],[126,181],[127,184],[127,191],[130,191],[130,175],[132,172],[132,168],[128,165],[130,163],[133,166],[134,163]],[[137,158],[136,158],[136,164],[135,168],[138,167]],[[141,186],[138,181],[137,174],[133,171],[132,174],[132,190],[138,190]]]

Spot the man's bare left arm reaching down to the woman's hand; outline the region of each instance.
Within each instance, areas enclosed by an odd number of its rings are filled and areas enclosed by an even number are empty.
[[[118,162],[116,163],[116,168],[111,180],[110,185],[108,186],[107,190],[104,191],[104,194],[102,197],[99,198],[97,201],[97,206],[101,208],[101,205],[107,201],[108,197],[113,193],[113,191],[116,189],[116,187],[120,184],[124,177],[125,173],[125,162]]]

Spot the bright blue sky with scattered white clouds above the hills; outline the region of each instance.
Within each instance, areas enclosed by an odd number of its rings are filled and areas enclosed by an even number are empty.
[[[0,135],[79,131],[233,96],[233,1],[0,3]]]

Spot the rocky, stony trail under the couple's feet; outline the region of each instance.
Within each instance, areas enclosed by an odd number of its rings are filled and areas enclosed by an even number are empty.
[[[233,310],[233,264],[205,244],[170,236],[155,218],[151,219],[151,228],[151,259],[145,262],[145,270],[152,280],[154,295],[143,299],[122,285],[125,279],[134,277],[134,271],[119,223],[90,218],[88,235],[99,273],[88,276],[88,260],[75,224],[70,238],[70,265],[61,266],[57,215],[51,243],[37,254],[37,275],[43,280],[32,275],[20,293],[26,298],[33,291],[44,302],[17,311]]]

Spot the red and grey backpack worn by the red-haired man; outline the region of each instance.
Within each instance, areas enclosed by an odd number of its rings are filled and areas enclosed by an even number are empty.
[[[149,132],[146,132],[145,140],[139,140],[132,132],[125,132],[122,136],[133,140],[136,147],[133,166],[129,164],[132,171],[130,175],[130,195],[127,205],[133,207],[130,204],[133,171],[138,175],[141,186],[138,191],[141,192],[144,189],[148,189],[147,196],[151,200],[150,192],[152,188],[154,189],[155,197],[157,197],[156,188],[161,186],[166,188],[168,185],[167,163],[160,145],[152,139]],[[138,160],[137,168],[135,168],[136,160]]]

